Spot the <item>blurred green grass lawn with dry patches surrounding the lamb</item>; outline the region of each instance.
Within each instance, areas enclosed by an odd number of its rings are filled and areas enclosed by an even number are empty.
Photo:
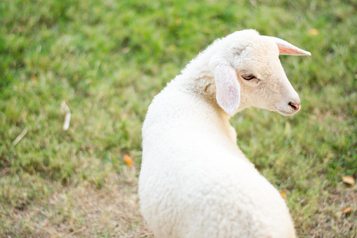
[[[355,1],[3,0],[0,25],[1,237],[147,232],[133,205],[147,107],[214,39],[247,28],[312,56],[281,56],[302,110],[245,110],[231,119],[238,145],[286,191],[299,237],[357,237],[357,185],[342,182],[357,178]],[[86,196],[105,218],[89,218]],[[123,199],[116,212],[105,197]]]

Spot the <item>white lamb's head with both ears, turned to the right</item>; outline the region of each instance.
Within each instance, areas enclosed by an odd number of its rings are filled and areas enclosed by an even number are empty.
[[[210,68],[214,69],[217,103],[225,112],[235,114],[250,106],[285,116],[299,111],[299,95],[285,75],[279,54],[309,52],[252,29],[219,39],[213,48]]]

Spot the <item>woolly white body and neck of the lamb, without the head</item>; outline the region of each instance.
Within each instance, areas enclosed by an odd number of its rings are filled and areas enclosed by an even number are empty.
[[[217,104],[210,67],[222,44],[229,42],[215,41],[149,106],[142,216],[155,237],[295,237],[285,201],[239,150],[231,114]]]

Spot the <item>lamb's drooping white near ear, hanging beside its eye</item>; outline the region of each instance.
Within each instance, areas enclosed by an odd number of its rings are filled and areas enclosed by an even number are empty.
[[[228,114],[234,114],[241,98],[236,70],[230,65],[217,65],[215,67],[216,99],[218,105]]]

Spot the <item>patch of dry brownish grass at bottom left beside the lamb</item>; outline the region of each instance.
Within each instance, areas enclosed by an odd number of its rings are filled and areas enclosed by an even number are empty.
[[[130,168],[108,176],[101,189],[88,183],[63,187],[7,216],[5,237],[153,237],[140,216],[137,177]]]

